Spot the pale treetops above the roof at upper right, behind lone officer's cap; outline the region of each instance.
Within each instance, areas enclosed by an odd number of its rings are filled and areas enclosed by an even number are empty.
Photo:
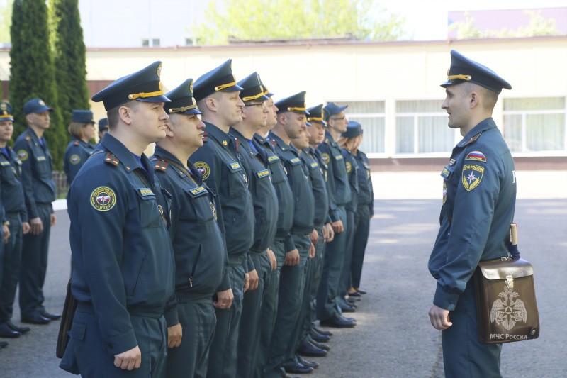
[[[527,26],[520,26],[518,30],[507,30],[502,28],[500,30],[484,30],[474,26],[474,18],[471,13],[465,12],[466,21],[459,21],[451,23],[449,30],[457,30],[456,38],[472,39],[472,38],[524,38],[534,37],[536,35],[558,35],[559,30],[556,26],[554,18],[546,19],[541,15],[541,11],[524,11],[524,14],[529,16]]]

